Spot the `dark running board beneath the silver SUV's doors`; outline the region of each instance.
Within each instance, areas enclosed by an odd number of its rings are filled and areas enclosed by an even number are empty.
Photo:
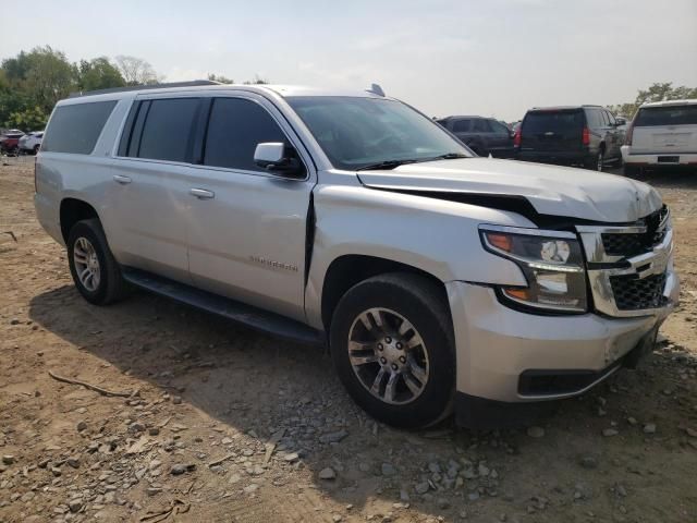
[[[218,316],[246,325],[255,330],[286,338],[299,343],[325,344],[322,332],[294,319],[269,313],[229,297],[203,291],[178,281],[130,267],[122,268],[123,279],[146,291],[207,311]]]

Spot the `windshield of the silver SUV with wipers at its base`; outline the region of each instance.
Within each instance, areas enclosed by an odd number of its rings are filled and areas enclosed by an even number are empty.
[[[357,170],[382,162],[472,156],[440,125],[395,100],[350,96],[289,97],[332,165]]]

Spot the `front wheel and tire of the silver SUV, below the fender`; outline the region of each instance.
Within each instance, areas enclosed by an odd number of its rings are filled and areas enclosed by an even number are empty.
[[[450,413],[453,329],[442,289],[412,273],[387,273],[350,289],[332,317],[330,346],[344,387],[368,414],[418,428]]]

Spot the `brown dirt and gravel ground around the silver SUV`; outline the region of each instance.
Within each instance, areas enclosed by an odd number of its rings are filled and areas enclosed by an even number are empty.
[[[7,163],[0,522],[697,521],[697,173],[645,177],[674,212],[683,301],[639,370],[535,430],[407,433],[319,349],[146,293],[87,304],[35,220],[30,159]]]

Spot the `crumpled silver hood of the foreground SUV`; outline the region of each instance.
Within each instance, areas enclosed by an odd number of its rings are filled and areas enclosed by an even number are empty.
[[[584,169],[492,158],[407,163],[360,171],[369,187],[523,196],[539,214],[602,222],[629,222],[661,207],[646,183]]]

